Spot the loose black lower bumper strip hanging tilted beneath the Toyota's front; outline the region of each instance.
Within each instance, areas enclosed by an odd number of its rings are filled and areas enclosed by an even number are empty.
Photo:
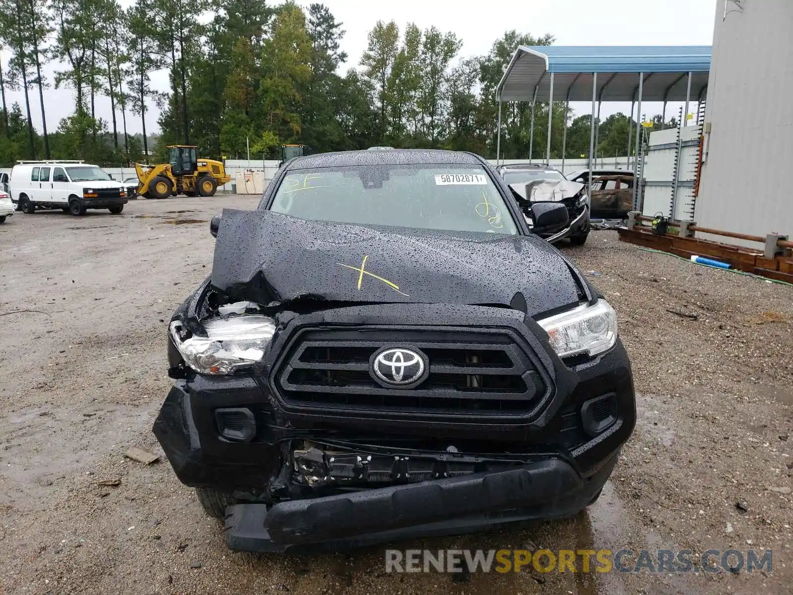
[[[600,492],[618,456],[590,478],[582,478],[569,463],[549,459],[497,473],[274,506],[233,505],[226,509],[226,543],[236,551],[339,551],[572,516]]]

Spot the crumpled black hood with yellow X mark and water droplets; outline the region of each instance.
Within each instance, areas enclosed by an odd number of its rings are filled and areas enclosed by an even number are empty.
[[[512,305],[578,301],[565,259],[534,236],[305,221],[224,209],[212,285],[262,305],[330,301]]]

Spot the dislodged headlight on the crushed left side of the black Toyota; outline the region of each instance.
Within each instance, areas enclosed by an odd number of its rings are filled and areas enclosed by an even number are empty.
[[[232,374],[258,362],[275,332],[274,320],[266,316],[213,318],[203,324],[205,337],[190,335],[179,321],[169,327],[185,363],[199,374]]]

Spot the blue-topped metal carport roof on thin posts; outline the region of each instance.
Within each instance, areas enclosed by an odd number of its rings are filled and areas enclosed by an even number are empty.
[[[592,73],[597,73],[597,98],[630,102],[638,98],[643,73],[644,101],[683,101],[691,72],[691,99],[707,87],[711,69],[709,45],[521,45],[515,50],[498,86],[502,101],[548,101],[550,73],[554,100],[592,100]]]

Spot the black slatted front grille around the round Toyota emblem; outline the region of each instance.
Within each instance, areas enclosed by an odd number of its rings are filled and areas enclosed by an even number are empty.
[[[470,328],[304,330],[274,374],[278,394],[308,409],[526,415],[546,393],[538,366],[511,332]],[[370,358],[381,347],[411,347],[429,360],[411,389],[381,386]]]

